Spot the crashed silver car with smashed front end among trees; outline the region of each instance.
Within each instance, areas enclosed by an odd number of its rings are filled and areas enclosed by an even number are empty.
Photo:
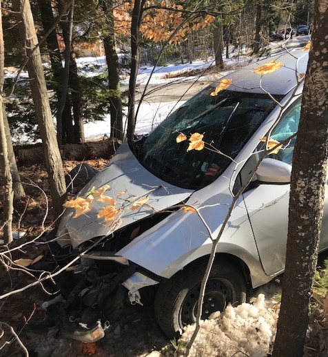
[[[254,73],[272,60],[284,66]],[[225,90],[216,91],[218,83],[208,86],[148,137],[122,144],[79,193],[81,206],[74,200],[66,205],[57,239],[76,257],[81,254],[72,268],[72,289],[63,294],[68,335],[101,338],[106,321],[114,324],[126,300],[142,305],[154,298],[156,319],[169,337],[195,321],[211,238],[217,238],[235,193],[263,153],[260,139],[277,118],[271,139],[284,142],[283,148],[264,158],[232,211],[202,318],[245,302],[247,291],[283,272],[299,74],[306,68],[307,54],[299,51],[230,73]],[[189,140],[177,140],[194,133],[203,135],[205,148],[188,150]],[[326,216],[327,210],[320,249],[328,244]]]

